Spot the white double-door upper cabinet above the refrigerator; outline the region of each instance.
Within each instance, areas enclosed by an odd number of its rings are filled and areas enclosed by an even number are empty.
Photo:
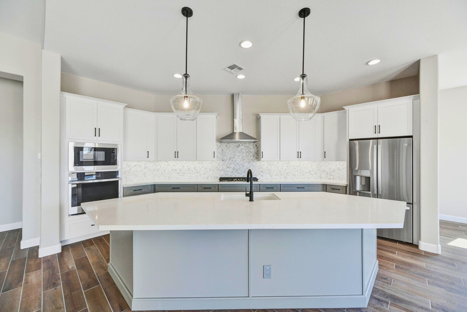
[[[348,137],[362,139],[412,135],[412,101],[418,95],[345,106]]]

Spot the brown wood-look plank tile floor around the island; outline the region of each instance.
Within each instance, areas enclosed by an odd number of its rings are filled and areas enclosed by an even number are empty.
[[[440,221],[439,232],[441,255],[377,240],[379,271],[364,309],[230,312],[467,312],[467,225]],[[20,229],[0,232],[0,312],[131,312],[106,270],[109,235],[42,259],[37,247],[20,249],[20,241]]]

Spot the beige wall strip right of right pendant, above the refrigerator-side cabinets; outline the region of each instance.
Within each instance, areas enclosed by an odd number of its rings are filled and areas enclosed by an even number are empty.
[[[321,105],[318,112],[339,111],[343,109],[342,106],[399,98],[418,93],[418,76],[401,78],[380,84],[321,95]]]

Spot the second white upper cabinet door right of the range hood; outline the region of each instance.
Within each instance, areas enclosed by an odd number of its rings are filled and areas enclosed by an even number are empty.
[[[281,116],[281,160],[298,161],[298,124],[292,116]]]

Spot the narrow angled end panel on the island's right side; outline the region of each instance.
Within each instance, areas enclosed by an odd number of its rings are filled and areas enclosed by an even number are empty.
[[[363,235],[363,291],[368,292],[368,286],[373,288],[374,272],[376,267],[376,229],[375,228],[364,228],[362,229]],[[372,279],[373,278],[373,279]],[[371,292],[371,289],[369,290]]]

